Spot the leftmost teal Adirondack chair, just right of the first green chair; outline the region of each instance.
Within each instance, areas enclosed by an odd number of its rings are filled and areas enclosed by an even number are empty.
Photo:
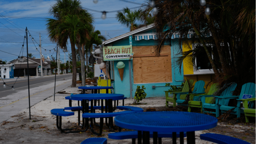
[[[205,84],[204,81],[197,81],[195,83],[192,94],[204,94],[205,93],[204,84]],[[189,92],[174,92],[173,97],[176,98],[176,102],[178,103],[178,105],[181,105],[181,103],[185,101],[187,94],[189,94]],[[192,98],[189,98],[189,99],[192,99]]]

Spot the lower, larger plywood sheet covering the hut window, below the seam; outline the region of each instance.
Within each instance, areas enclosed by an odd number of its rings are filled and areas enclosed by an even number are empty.
[[[171,56],[133,58],[134,84],[171,81]]]

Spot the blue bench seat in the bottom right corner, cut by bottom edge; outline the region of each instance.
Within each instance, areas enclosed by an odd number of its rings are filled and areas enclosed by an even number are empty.
[[[244,140],[216,133],[201,134],[200,139],[212,141],[218,144],[250,144],[249,142],[246,142]]]

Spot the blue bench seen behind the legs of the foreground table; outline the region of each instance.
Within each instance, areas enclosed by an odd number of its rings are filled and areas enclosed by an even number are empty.
[[[153,138],[153,132],[149,133],[150,138]],[[141,135],[143,136],[143,135]],[[187,134],[184,132],[183,137],[186,137]],[[162,138],[172,138],[172,133],[157,133],[159,143],[162,143]],[[176,137],[180,137],[180,133],[176,134]],[[115,132],[108,134],[109,139],[114,140],[124,140],[124,139],[132,139],[132,144],[135,144],[135,139],[138,138],[138,131],[126,131],[126,132]]]

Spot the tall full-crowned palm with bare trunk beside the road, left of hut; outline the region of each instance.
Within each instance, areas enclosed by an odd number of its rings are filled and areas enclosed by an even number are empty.
[[[81,24],[83,26],[88,26],[92,22],[91,15],[82,9],[81,2],[79,0],[57,0],[57,3],[52,6],[49,13],[54,16],[56,19],[48,19],[47,30],[49,37],[53,42],[60,44],[60,48],[67,49],[66,45],[68,44],[68,38],[70,39],[71,44],[71,54],[72,54],[72,63],[73,63],[73,74],[72,74],[72,87],[76,87],[76,49],[75,45],[80,44],[85,40],[85,35],[82,32],[76,32],[78,27],[76,24]],[[67,15],[69,16],[67,17]],[[78,18],[79,15],[79,18]],[[81,19],[82,18],[82,19]],[[64,20],[65,19],[65,20]],[[76,20],[72,22],[70,20]],[[65,22],[65,25],[63,25]],[[83,24],[82,24],[82,23]],[[65,29],[67,28],[67,29]],[[88,27],[87,27],[88,28]],[[83,29],[79,27],[78,29]],[[85,29],[84,29],[85,30]],[[69,32],[75,32],[71,34]],[[86,29],[85,32],[88,32]],[[82,36],[79,36],[79,35]],[[87,34],[88,35],[88,34]],[[82,39],[81,39],[82,38]],[[82,41],[81,41],[82,40]]]

